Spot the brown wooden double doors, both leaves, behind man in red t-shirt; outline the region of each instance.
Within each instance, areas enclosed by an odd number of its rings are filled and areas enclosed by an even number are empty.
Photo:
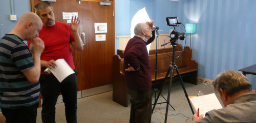
[[[40,0],[31,0],[31,11]],[[115,19],[114,0],[109,1],[110,6],[99,5],[99,0],[56,0],[51,2],[54,9],[55,20],[67,23],[63,20],[62,12],[78,12],[80,24],[78,33],[84,42],[82,33],[85,34],[86,44],[83,51],[72,48],[74,64],[78,71],[78,91],[82,91],[82,97],[99,94],[112,90],[112,57],[115,54]],[[94,23],[107,23],[108,33],[106,41],[95,41]],[[110,85],[110,86],[108,86]],[[79,93],[78,93],[79,95]],[[80,98],[80,96],[78,96]]]

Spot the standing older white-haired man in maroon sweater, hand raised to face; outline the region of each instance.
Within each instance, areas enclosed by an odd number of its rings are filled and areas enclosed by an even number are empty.
[[[124,50],[124,78],[131,94],[130,122],[151,122],[151,72],[146,45],[155,39],[154,21],[138,23]]]

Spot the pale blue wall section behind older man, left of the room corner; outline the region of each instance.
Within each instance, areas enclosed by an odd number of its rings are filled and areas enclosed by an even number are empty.
[[[166,0],[115,0],[115,36],[130,36],[134,15],[145,7],[154,25],[159,26],[159,34],[169,34],[165,18],[171,16],[171,1]],[[115,52],[119,49],[119,39],[115,39]]]

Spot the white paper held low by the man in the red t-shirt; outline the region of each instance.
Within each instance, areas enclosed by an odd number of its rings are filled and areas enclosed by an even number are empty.
[[[59,82],[62,82],[69,75],[75,73],[70,68],[69,64],[66,62],[65,59],[57,59],[55,60],[55,63],[57,66],[55,66],[55,68],[50,69],[50,71],[59,80]]]

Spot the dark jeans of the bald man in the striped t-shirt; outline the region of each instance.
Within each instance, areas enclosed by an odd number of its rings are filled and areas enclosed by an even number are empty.
[[[18,109],[1,108],[1,110],[6,118],[6,123],[35,123],[38,105],[39,103],[36,103],[29,107]]]

